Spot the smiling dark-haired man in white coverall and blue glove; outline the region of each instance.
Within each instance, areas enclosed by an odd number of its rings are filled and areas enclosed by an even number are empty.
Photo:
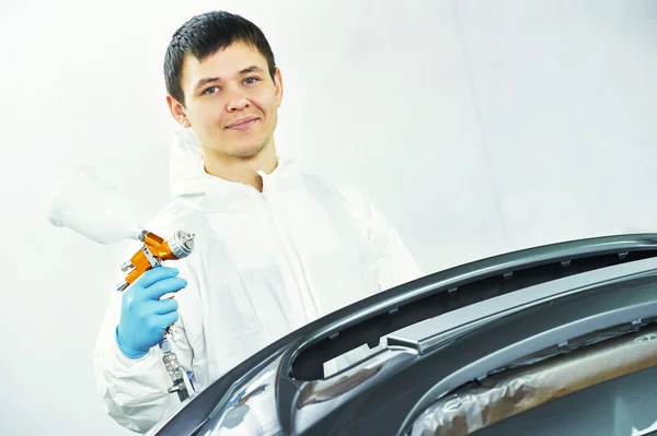
[[[283,79],[257,26],[227,12],[193,17],[173,35],[164,74],[184,130],[173,201],[148,229],[194,233],[195,250],[114,292],[94,351],[108,414],[136,432],[180,404],[155,346],[172,322],[199,390],[295,329],[422,275],[366,197],[277,154]]]

